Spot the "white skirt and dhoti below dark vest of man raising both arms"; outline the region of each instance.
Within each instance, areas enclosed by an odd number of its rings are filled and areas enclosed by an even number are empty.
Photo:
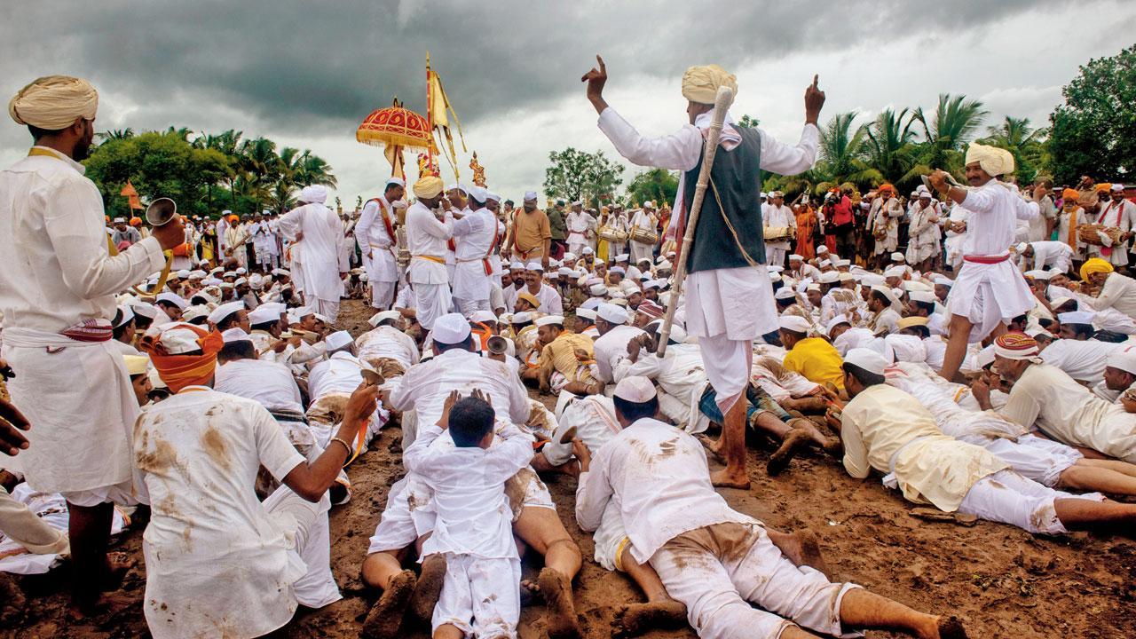
[[[750,380],[753,340],[777,330],[763,264],[699,271],[686,277],[686,333],[699,338],[707,377],[722,415]]]

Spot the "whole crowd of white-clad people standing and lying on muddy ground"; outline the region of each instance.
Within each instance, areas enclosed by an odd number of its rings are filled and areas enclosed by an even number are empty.
[[[884,184],[786,205],[757,177],[816,159],[815,78],[795,144],[726,115],[688,230],[734,77],[688,69],[687,123],[658,139],[607,103],[607,77],[602,59],[583,77],[600,130],[680,172],[673,207],[542,209],[529,191],[515,208],[426,175],[346,216],[311,185],[278,214],[145,227],[106,218],[83,176],[94,88],[23,89],[9,114],[34,146],[0,173],[0,531],[26,570],[70,556],[74,619],[131,605],[137,558],[107,551],[125,514],[145,523],[154,637],[266,634],[341,598],[328,513],[395,424],[406,474],[359,557],[362,637],[516,637],[523,598],[549,637],[578,637],[554,474],[577,482],[594,561],[642,589],[625,629],[966,637],[947,611],[834,581],[813,534],[733,509],[716,488],[749,487],[751,430],[770,475],[810,454],[946,518],[1133,530],[1136,505],[1108,496],[1136,496],[1134,189],[1022,190],[1009,152],[972,143],[968,186],[935,171],[907,200]],[[357,337],[336,325],[346,297],[373,307]],[[35,516],[43,496],[65,523]],[[543,556],[533,582],[524,549]]]

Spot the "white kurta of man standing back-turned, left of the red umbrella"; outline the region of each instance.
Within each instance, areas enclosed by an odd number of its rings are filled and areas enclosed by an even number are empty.
[[[340,273],[350,267],[344,259],[343,225],[334,211],[320,204],[304,205],[281,217],[281,230],[290,238],[303,233],[303,294],[309,308],[320,308],[320,313],[333,321],[337,315],[340,298],[343,297],[343,280]],[[328,314],[331,313],[331,314]]]

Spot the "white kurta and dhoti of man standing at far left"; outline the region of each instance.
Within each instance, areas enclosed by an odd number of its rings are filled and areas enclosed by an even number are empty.
[[[36,147],[36,149],[43,149]],[[31,156],[0,173],[2,357],[17,371],[12,401],[33,424],[31,447],[6,462],[44,492],[131,480],[137,401],[110,342],[59,333],[115,316],[115,294],[161,268],[158,240],[109,257],[102,197],[70,158]]]

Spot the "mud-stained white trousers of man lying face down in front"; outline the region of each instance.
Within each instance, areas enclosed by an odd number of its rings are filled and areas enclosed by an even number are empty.
[[[651,566],[667,594],[686,604],[686,619],[703,639],[777,639],[794,622],[822,634],[859,636],[844,633],[840,621],[841,600],[859,587],[794,565],[758,523],[684,532],[655,551]]]

